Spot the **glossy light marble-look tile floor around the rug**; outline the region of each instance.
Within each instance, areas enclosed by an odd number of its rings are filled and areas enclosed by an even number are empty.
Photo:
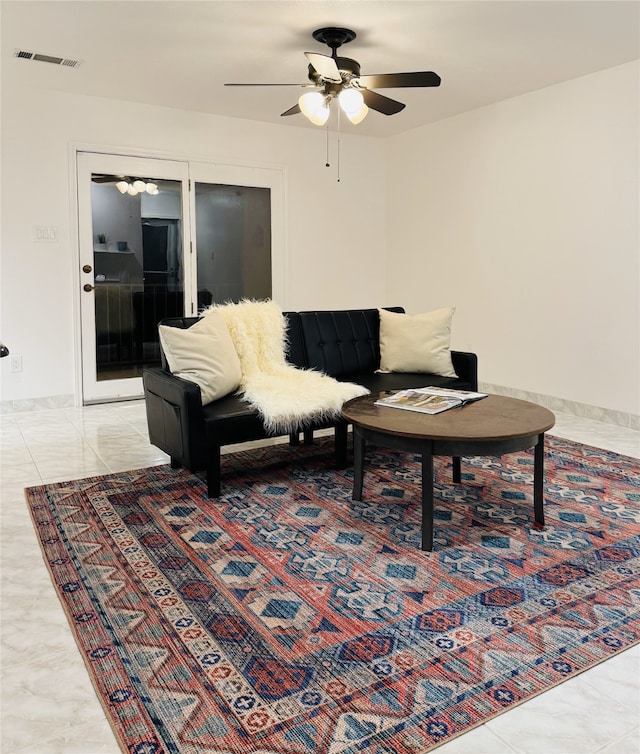
[[[556,414],[552,434],[640,458],[640,433]],[[51,587],[24,487],[167,462],[141,401],[0,417],[2,754],[120,748]],[[237,448],[234,448],[237,449]],[[640,754],[640,646],[444,744],[438,754]]]

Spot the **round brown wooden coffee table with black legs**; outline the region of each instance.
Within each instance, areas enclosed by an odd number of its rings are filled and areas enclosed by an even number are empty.
[[[384,395],[364,395],[342,407],[343,418],[353,425],[354,500],[362,500],[367,442],[420,453],[422,549],[430,552],[433,549],[433,456],[451,456],[453,481],[460,482],[461,456],[501,456],[535,448],[534,519],[538,526],[544,526],[544,433],[555,424],[551,411],[529,401],[489,395],[431,415],[374,405]]]

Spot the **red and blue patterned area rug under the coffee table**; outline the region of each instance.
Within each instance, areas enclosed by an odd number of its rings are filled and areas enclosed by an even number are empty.
[[[130,754],[416,754],[640,640],[640,468],[549,437],[436,462],[332,441],[223,456],[223,495],[168,466],[27,490],[55,588]]]

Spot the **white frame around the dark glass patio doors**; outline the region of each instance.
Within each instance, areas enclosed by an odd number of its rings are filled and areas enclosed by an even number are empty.
[[[283,309],[288,306],[288,289],[287,289],[287,270],[289,267],[289,254],[288,254],[288,239],[287,239],[287,226],[285,222],[285,207],[287,205],[287,170],[282,164],[273,163],[243,163],[241,161],[228,162],[225,159],[216,159],[213,156],[203,155],[185,155],[174,154],[166,152],[149,151],[139,148],[126,148],[121,146],[107,146],[99,144],[89,144],[85,142],[74,142],[68,146],[68,165],[69,165],[69,189],[70,189],[70,243],[74,249],[73,262],[72,262],[72,305],[73,305],[73,338],[74,338],[74,403],[76,406],[85,405],[83,395],[83,346],[82,346],[82,318],[81,318],[81,288],[82,288],[82,263],[81,263],[81,236],[80,236],[80,203],[79,203],[79,184],[78,184],[78,157],[81,153],[90,153],[96,156],[114,156],[122,158],[142,158],[145,160],[159,160],[165,162],[179,162],[186,163],[189,168],[192,165],[198,166],[196,176],[192,180],[204,180],[209,182],[207,178],[199,178],[199,170],[201,166],[207,166],[207,168],[215,167],[217,169],[218,183],[225,183],[231,180],[232,183],[236,182],[239,174],[242,174],[245,179],[253,177],[254,180],[262,178],[262,182],[253,184],[258,186],[269,186],[271,191],[271,221],[272,221],[272,298],[274,301],[280,303]],[[236,172],[238,171],[238,172]],[[264,183],[266,177],[270,176],[270,184]],[[251,185],[251,182],[246,185]],[[193,209],[192,209],[193,207]],[[195,199],[194,192],[189,191],[188,205],[185,207],[183,217],[183,227],[186,228],[189,223],[189,238],[185,236],[185,263],[189,262],[189,280],[192,286],[193,296],[197,296],[196,293],[196,274],[197,265],[195,260],[190,262],[186,257],[191,256],[192,244],[195,247],[195,225],[191,228],[191,223],[194,220],[195,211]],[[189,248],[189,254],[187,254],[187,247]],[[187,281],[187,268],[185,267],[185,283]],[[186,306],[185,297],[185,306]],[[194,304],[195,305],[195,304]],[[95,347],[95,346],[94,346]],[[142,397],[142,391],[139,395],[133,396],[121,396],[100,399],[100,403],[122,401],[122,400],[136,400]]]

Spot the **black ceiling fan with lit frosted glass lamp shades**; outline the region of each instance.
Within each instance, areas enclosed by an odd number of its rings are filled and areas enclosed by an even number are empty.
[[[303,113],[315,125],[324,125],[329,118],[329,105],[337,99],[341,110],[354,124],[360,123],[369,108],[383,115],[395,115],[404,109],[402,102],[385,97],[373,89],[394,89],[400,87],[440,86],[440,76],[433,71],[411,73],[380,73],[361,76],[360,64],[351,58],[338,57],[337,51],[343,44],[352,42],[356,33],[351,29],[329,26],[316,29],[313,38],[328,45],[331,55],[305,52],[309,61],[311,84],[225,84],[225,86],[301,86],[312,88],[303,94],[298,104],[281,113],[297,115]]]

